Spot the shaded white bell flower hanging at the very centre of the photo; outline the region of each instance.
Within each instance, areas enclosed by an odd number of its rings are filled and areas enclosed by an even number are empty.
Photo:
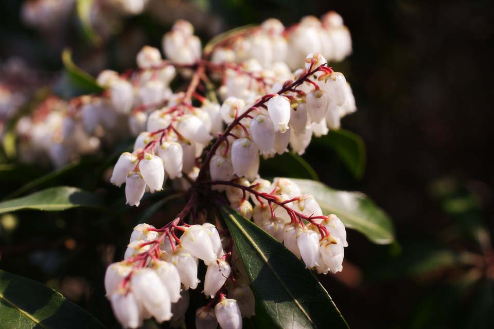
[[[232,165],[235,174],[254,180],[259,170],[259,153],[250,138],[239,138],[232,144]]]

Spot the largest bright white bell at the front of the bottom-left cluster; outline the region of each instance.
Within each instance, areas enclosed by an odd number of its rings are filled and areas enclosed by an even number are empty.
[[[171,319],[170,296],[154,270],[135,270],[131,279],[131,289],[136,299],[158,323]]]

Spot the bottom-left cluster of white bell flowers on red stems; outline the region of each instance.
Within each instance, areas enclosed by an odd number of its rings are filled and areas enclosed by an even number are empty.
[[[137,225],[125,260],[108,267],[104,285],[118,321],[136,328],[154,317],[180,326],[189,304],[188,290],[201,282],[197,277],[201,260],[207,266],[203,293],[211,301],[197,310],[196,326],[219,323],[222,328],[241,328],[242,317],[254,315],[254,295],[246,278],[232,270],[232,251],[225,252],[232,249],[231,241],[222,240],[213,224],[177,223],[161,229]],[[180,239],[176,232],[182,232]],[[232,298],[226,299],[225,293]]]

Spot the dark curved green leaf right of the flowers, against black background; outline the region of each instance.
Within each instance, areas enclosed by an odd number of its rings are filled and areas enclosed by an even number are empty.
[[[355,178],[362,178],[365,171],[365,143],[359,135],[350,131],[330,130],[326,136],[314,142],[336,152]]]

